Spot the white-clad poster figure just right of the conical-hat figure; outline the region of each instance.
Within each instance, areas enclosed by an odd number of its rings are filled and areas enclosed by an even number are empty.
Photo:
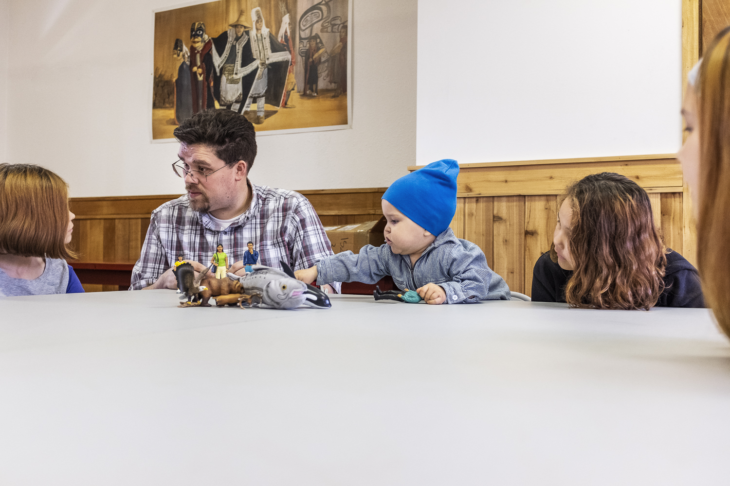
[[[253,57],[258,60],[258,71],[256,71],[253,86],[246,98],[244,114],[247,114],[251,104],[255,101],[256,115],[249,119],[251,122],[261,125],[266,115],[264,103],[277,107],[281,104],[291,54],[266,28],[264,14],[261,13],[259,7],[251,10],[251,20],[253,22],[250,40],[251,52],[253,52]]]

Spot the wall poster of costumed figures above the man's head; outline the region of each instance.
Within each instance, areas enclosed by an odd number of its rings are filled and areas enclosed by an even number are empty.
[[[153,140],[174,141],[180,122],[218,108],[243,114],[258,135],[350,128],[352,1],[217,0],[155,12]]]

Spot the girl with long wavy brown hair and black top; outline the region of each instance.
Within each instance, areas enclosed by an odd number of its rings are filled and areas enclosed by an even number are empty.
[[[566,189],[553,248],[533,270],[532,300],[582,309],[704,307],[697,270],[664,247],[646,191],[610,172]]]

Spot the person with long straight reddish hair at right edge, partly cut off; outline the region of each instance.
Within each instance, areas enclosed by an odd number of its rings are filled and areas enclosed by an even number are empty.
[[[697,219],[697,260],[707,304],[730,336],[730,27],[688,74],[682,162]]]

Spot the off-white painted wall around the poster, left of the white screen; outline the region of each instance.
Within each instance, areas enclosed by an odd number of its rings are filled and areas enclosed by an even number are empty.
[[[177,2],[0,1],[12,18],[9,66],[0,69],[9,73],[9,160],[56,171],[73,197],[183,192],[170,169],[177,144],[150,142],[152,12]],[[254,182],[384,187],[407,173],[416,12],[417,0],[354,2],[352,130],[258,138]]]

